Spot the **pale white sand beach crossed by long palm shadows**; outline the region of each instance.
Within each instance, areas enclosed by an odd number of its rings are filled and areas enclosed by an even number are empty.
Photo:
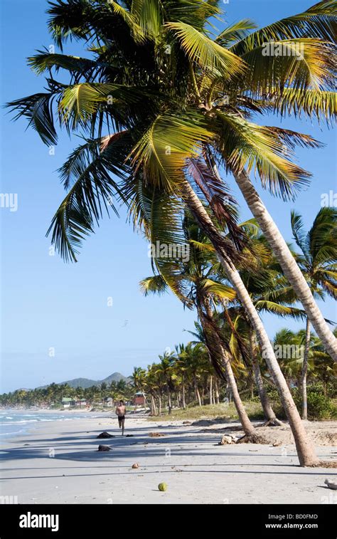
[[[134,437],[122,438],[106,414],[41,422],[8,439],[0,451],[1,496],[18,503],[337,503],[337,491],[324,485],[336,471],[300,468],[293,445],[218,446],[224,424],[219,434],[216,425],[208,432],[139,417],[126,424]],[[105,430],[116,437],[97,440]],[[165,436],[151,438],[151,431]],[[98,452],[99,444],[112,451]],[[320,459],[336,459],[336,447],[316,449]],[[161,482],[166,492],[159,492]]]

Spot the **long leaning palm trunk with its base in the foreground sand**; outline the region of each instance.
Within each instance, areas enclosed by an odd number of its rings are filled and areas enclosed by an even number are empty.
[[[201,229],[205,231],[210,241],[212,241],[212,244],[215,247],[216,252],[218,253],[220,262],[225,269],[225,273],[227,274],[230,282],[232,283],[232,286],[235,288],[237,297],[241,301],[250,319],[250,322],[252,323],[252,327],[255,330],[257,340],[262,350],[262,357],[264,357],[267,362],[269,371],[272,374],[274,383],[279,392],[279,397],[284,407],[284,411],[287,414],[287,418],[289,420],[291,431],[296,444],[299,463],[301,464],[301,466],[311,466],[313,464],[317,464],[318,459],[316,457],[314,447],[310,443],[304,426],[301,422],[301,417],[294,403],[294,399],[291,396],[291,392],[289,390],[289,387],[287,386],[287,382],[284,379],[282,370],[280,369],[277,359],[274,355],[274,350],[272,348],[271,342],[269,341],[267,332],[264,329],[264,326],[262,324],[259,314],[257,313],[257,310],[255,309],[254,304],[252,303],[250,294],[248,293],[244,283],[242,282],[239,272],[232,264],[232,262],[228,260],[223,242],[223,236],[221,236],[218,229],[216,229],[212,220],[208,216],[207,211],[205,211],[203,204],[200,202],[200,199],[198,199],[196,193],[193,191],[191,185],[188,184],[188,182],[184,182],[183,184],[183,199],[192,214],[195,216]]]

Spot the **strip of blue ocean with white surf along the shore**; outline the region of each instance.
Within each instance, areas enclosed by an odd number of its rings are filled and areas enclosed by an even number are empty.
[[[43,410],[0,410],[0,440],[11,436],[25,434],[27,429],[33,428],[40,422],[50,421],[72,421],[73,419],[84,419],[90,417],[103,417],[90,412],[53,412]],[[106,414],[104,417],[107,417]]]

